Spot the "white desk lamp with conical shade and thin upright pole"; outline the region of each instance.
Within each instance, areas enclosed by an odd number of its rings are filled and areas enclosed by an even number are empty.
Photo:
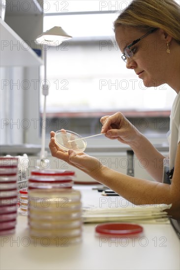
[[[46,97],[49,93],[49,85],[47,82],[47,50],[49,46],[59,46],[62,41],[71,39],[72,36],[69,36],[61,27],[53,27],[46,32],[42,33],[36,38],[36,43],[41,44],[43,48],[43,58],[44,58],[44,81],[42,84],[42,94],[44,95],[44,107],[43,107],[43,117],[42,121],[46,123]],[[46,124],[45,124],[46,125]],[[40,161],[43,162],[43,159],[46,158],[45,152],[45,137],[46,137],[46,127],[42,125],[41,128],[41,152],[40,152]]]

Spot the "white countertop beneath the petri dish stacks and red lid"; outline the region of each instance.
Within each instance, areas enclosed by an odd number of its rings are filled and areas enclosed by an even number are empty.
[[[81,190],[86,207],[102,204],[101,193],[92,187],[74,187]],[[109,196],[103,206],[116,198]],[[0,270],[180,269],[180,240],[171,224],[142,224],[142,236],[124,239],[99,238],[94,233],[96,224],[84,224],[81,243],[45,246],[30,241],[27,216],[19,215],[17,222],[14,235],[0,237]]]

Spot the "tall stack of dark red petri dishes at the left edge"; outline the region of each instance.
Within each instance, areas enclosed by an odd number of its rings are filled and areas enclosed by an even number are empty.
[[[15,232],[18,201],[18,159],[0,157],[0,235]]]

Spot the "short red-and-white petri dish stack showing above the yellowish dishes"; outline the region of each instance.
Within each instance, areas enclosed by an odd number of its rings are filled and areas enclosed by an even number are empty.
[[[32,170],[28,189],[68,189],[72,188],[75,172],[63,170]]]

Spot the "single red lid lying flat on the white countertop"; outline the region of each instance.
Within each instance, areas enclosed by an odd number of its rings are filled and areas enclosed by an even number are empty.
[[[121,223],[121,222],[108,222],[102,223],[95,227],[95,232],[103,235],[133,235],[143,232],[143,227],[138,224]]]

